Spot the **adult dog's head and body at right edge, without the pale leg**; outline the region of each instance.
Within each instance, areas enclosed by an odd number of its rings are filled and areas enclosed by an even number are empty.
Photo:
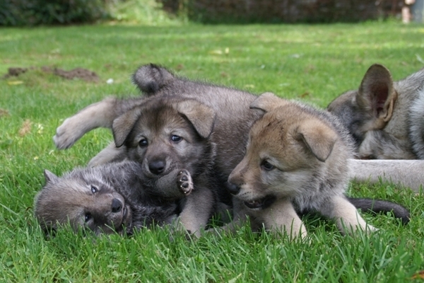
[[[358,90],[338,96],[328,110],[354,137],[358,158],[424,159],[424,69],[393,81],[374,64]]]

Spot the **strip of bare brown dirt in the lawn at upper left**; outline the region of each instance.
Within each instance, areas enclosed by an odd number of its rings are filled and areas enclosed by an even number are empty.
[[[54,67],[28,67],[28,68],[20,68],[20,67],[11,67],[8,68],[7,74],[5,74],[3,77],[4,79],[8,79],[12,76],[20,76],[20,74],[26,73],[27,71],[32,71],[35,69],[40,69],[41,71],[44,71],[45,73],[51,73],[56,76],[61,76],[64,79],[82,79],[84,81],[92,81],[92,82],[98,82],[100,81],[100,78],[97,74],[95,74],[94,71],[90,71],[88,69],[84,68],[76,68],[71,69],[70,71],[65,71],[64,69],[54,68]]]

